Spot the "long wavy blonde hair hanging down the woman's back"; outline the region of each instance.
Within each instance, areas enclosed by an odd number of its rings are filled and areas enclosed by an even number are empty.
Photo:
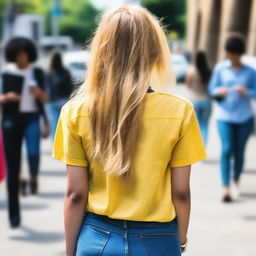
[[[132,168],[143,102],[152,81],[170,83],[170,53],[159,21],[139,6],[106,12],[91,44],[85,83],[93,157],[117,176]]]

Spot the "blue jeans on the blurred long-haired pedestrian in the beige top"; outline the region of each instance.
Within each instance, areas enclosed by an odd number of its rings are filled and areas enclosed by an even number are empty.
[[[212,112],[212,104],[210,100],[201,100],[193,102],[196,116],[199,122],[204,144],[207,143],[208,138],[208,123]]]

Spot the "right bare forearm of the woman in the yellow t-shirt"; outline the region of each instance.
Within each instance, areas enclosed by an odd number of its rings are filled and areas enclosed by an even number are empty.
[[[181,244],[186,243],[190,217],[190,170],[190,165],[171,169],[172,200]]]

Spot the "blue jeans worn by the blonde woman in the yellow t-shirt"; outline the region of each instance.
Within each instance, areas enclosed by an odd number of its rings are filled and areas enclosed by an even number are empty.
[[[180,256],[176,220],[166,223],[114,220],[87,213],[76,256]]]

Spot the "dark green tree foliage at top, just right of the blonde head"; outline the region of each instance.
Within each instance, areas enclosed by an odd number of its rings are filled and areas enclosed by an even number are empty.
[[[185,34],[185,0],[142,0],[142,5],[161,18],[168,31]]]

